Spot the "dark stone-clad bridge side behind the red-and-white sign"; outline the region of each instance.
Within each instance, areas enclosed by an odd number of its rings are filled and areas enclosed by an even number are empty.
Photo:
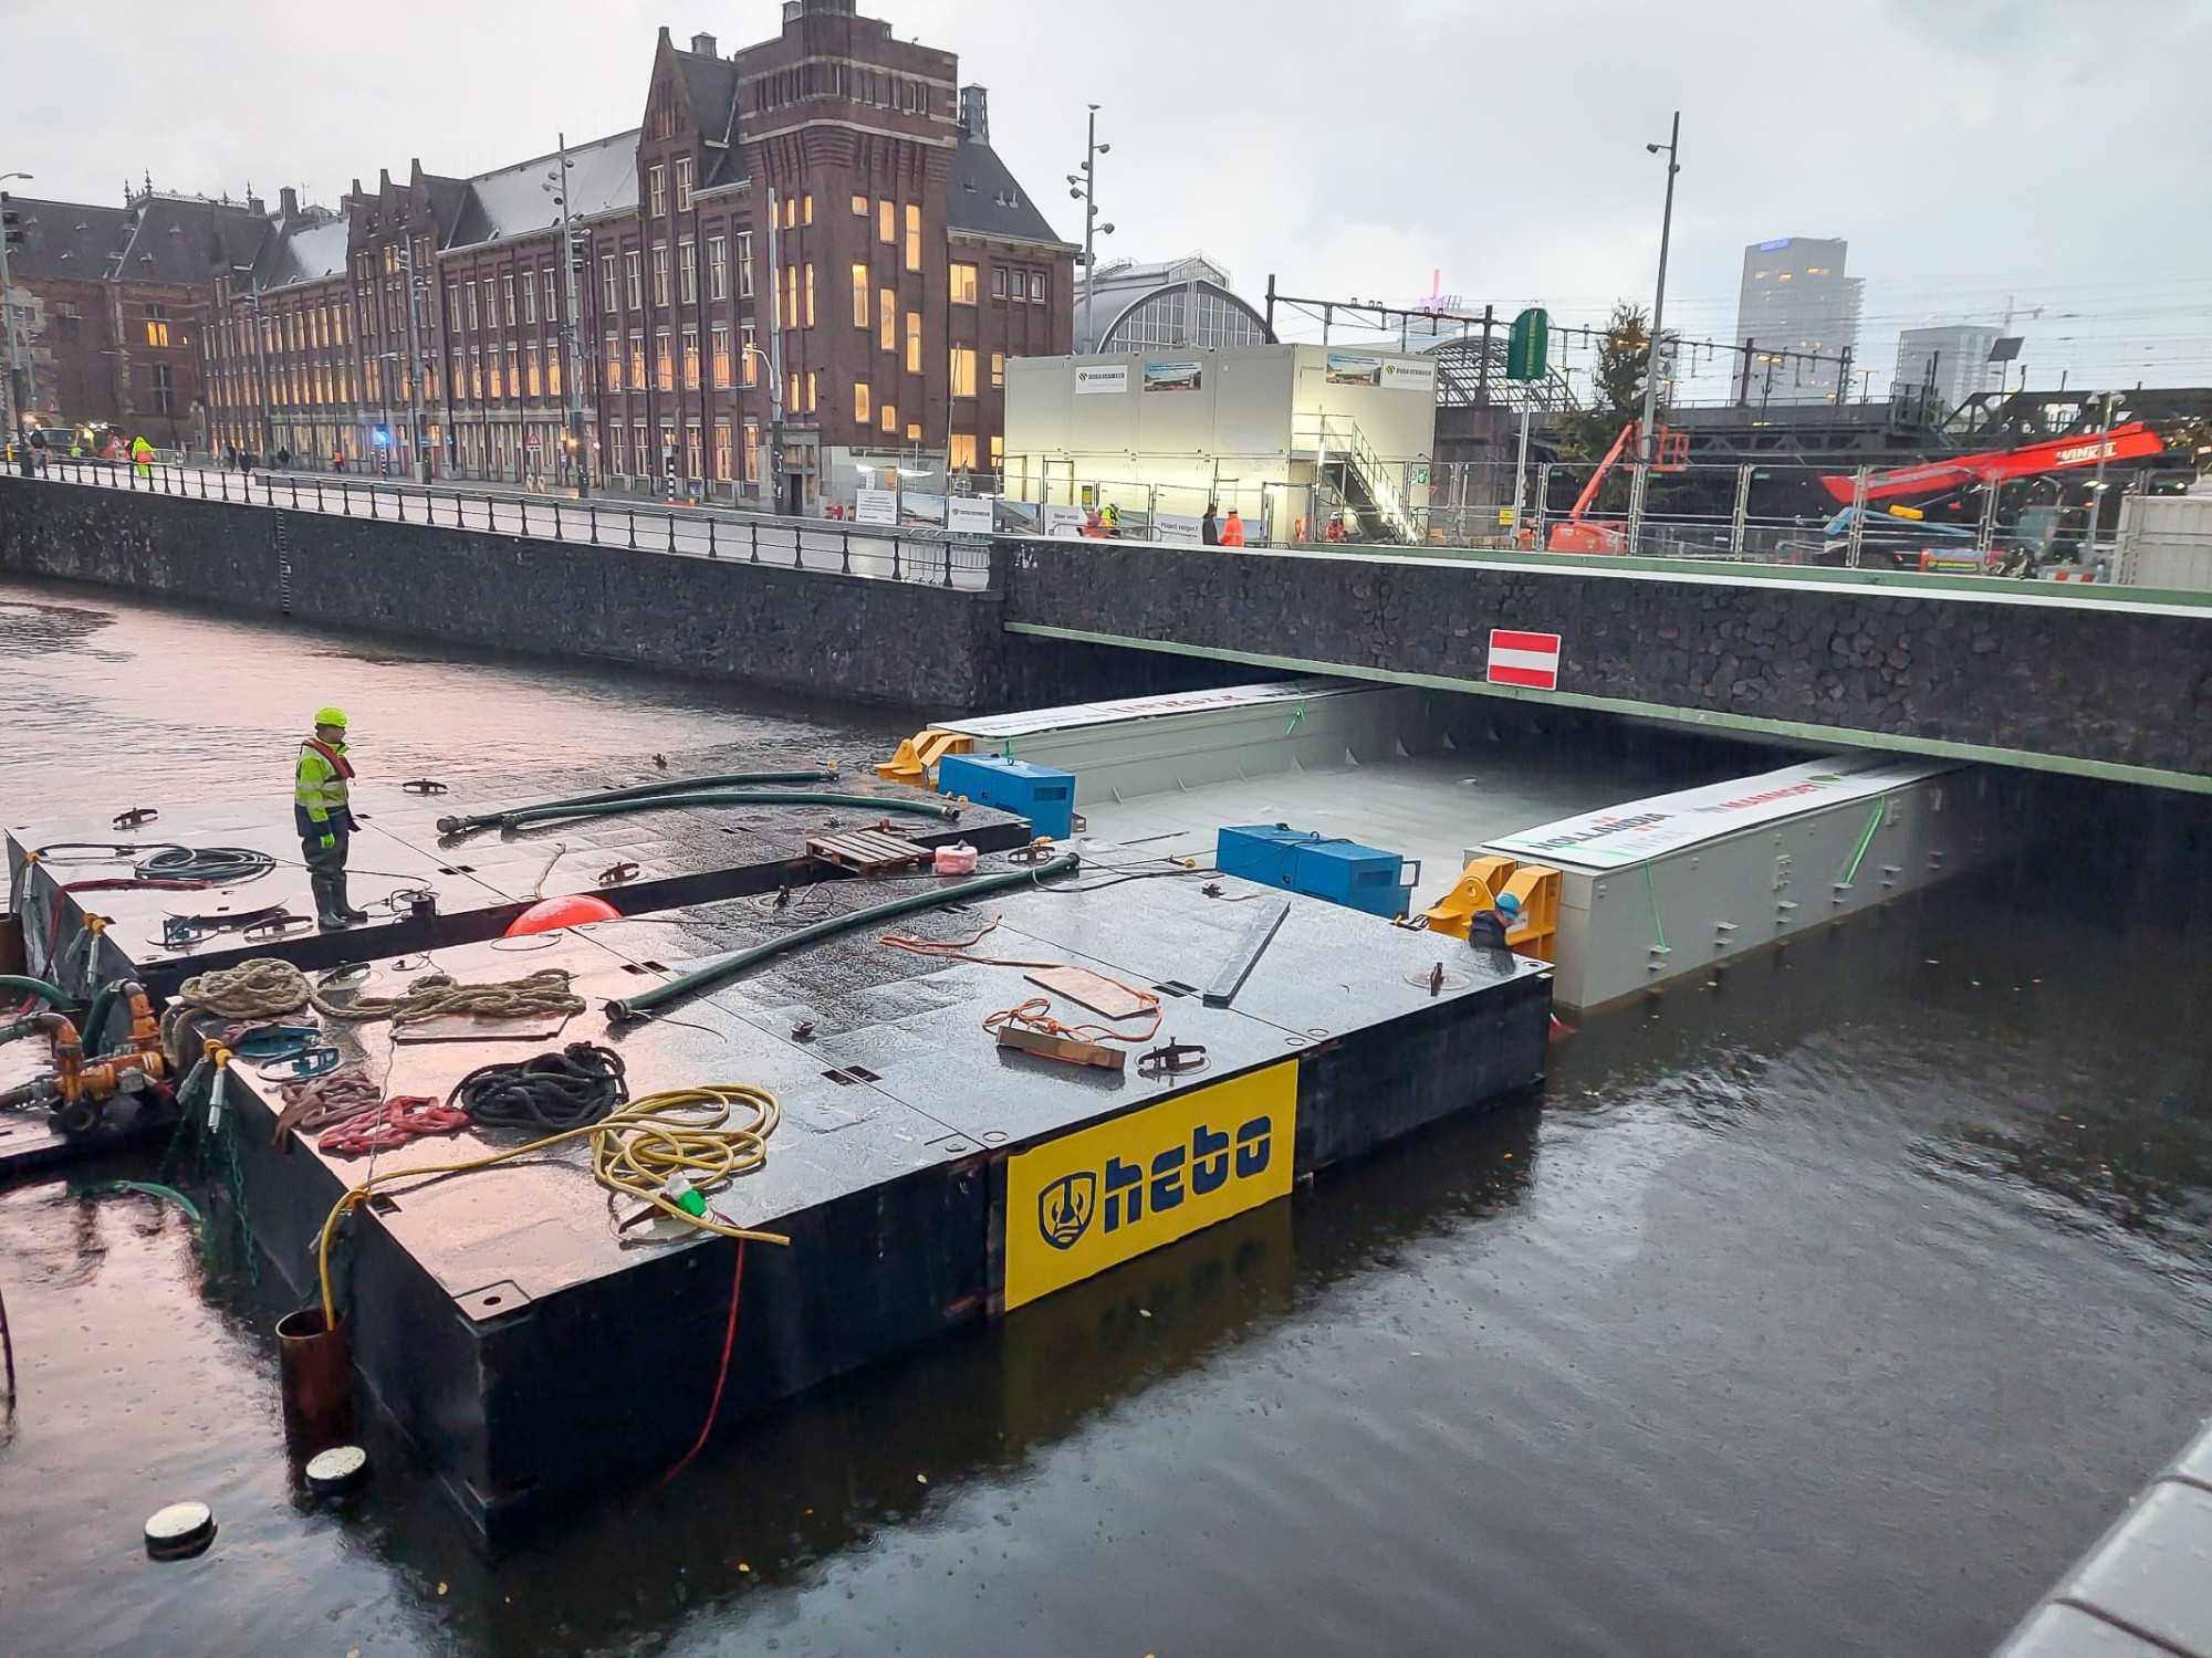
[[[1475,685],[1526,628],[1564,694],[2212,774],[2212,612],[1993,592],[1026,542],[1006,619]]]

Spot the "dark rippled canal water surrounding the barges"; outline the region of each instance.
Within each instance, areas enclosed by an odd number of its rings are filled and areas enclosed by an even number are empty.
[[[0,822],[911,721],[0,586]],[[2055,807],[2057,809],[2057,807]],[[1597,1019],[1422,1136],[480,1559],[283,1457],[272,1291],[0,1194],[7,1654],[1982,1654],[2212,1410],[2197,814]],[[2086,844],[2084,844],[2086,842]],[[2197,878],[2201,880],[2201,878]],[[588,1433],[588,1424],[580,1424]],[[139,1525],[199,1499],[210,1554]]]

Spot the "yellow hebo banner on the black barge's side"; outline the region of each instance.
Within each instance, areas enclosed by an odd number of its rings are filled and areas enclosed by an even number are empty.
[[[1006,1307],[1290,1196],[1298,1061],[1232,1077],[1006,1163]]]

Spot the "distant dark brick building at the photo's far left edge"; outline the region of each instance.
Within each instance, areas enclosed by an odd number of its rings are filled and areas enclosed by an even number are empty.
[[[29,358],[27,418],[204,447],[199,323],[217,272],[263,239],[259,203],[146,188],[122,208],[27,197],[9,208],[22,225],[9,303]]]

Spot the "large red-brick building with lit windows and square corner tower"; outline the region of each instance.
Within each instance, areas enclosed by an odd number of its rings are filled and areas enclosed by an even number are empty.
[[[664,29],[635,130],[469,179],[416,161],[336,212],[285,192],[215,283],[215,438],[504,482],[582,455],[726,500],[781,475],[785,508],[989,473],[1004,360],[1071,347],[1073,270],[951,53],[787,0],[730,57]]]

